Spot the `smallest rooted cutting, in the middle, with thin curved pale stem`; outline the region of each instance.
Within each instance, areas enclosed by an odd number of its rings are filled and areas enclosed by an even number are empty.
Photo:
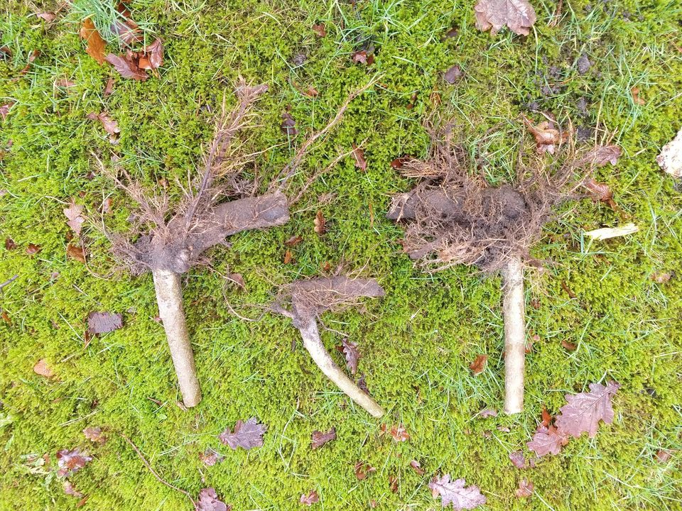
[[[283,295],[291,301],[291,312],[280,305],[273,309],[291,318],[293,326],[301,332],[303,346],[313,357],[315,364],[332,383],[372,417],[381,417],[384,410],[334,362],[320,339],[316,322],[324,311],[357,304],[359,297],[384,296],[384,290],[377,281],[347,277],[313,278],[294,282]]]

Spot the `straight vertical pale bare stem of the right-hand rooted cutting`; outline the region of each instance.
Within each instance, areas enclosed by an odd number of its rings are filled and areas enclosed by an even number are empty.
[[[524,410],[524,366],[526,358],[526,312],[524,265],[514,258],[502,270],[504,314],[504,412]]]

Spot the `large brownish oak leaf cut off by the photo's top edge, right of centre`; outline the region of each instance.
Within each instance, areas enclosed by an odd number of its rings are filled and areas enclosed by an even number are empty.
[[[506,25],[519,35],[528,35],[536,14],[527,0],[479,0],[474,7],[476,28],[497,34]]]

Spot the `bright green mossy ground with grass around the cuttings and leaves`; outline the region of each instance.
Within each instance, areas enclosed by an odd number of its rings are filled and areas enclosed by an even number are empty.
[[[538,22],[528,38],[508,31],[491,38],[473,26],[473,1],[360,0],[353,7],[337,1],[134,0],[134,18],[150,37],[165,41],[166,63],[160,77],[144,83],[115,77],[114,94],[104,98],[104,83],[114,72],[86,55],[77,13],[60,11],[46,25],[32,13],[55,6],[0,0],[1,44],[13,52],[0,60],[0,104],[16,101],[0,122],[1,145],[13,141],[0,162],[0,188],[6,190],[0,226],[2,238],[18,246],[0,248],[0,281],[19,275],[0,298],[11,319],[0,325],[1,509],[75,507],[77,499],[64,495],[57,480],[26,466],[27,455],[49,454],[55,463],[58,449],[75,446],[94,456],[72,477],[89,495],[84,509],[190,509],[117,432],[174,485],[193,495],[213,486],[234,510],[298,509],[301,494],[310,490],[319,493],[320,509],[364,510],[371,500],[384,510],[436,509],[440,503],[427,488],[435,473],[479,485],[490,510],[682,509],[680,452],[666,463],[654,457],[659,449],[682,449],[682,201],[654,160],[680,126],[682,5],[563,1],[563,17],[551,27],[556,2],[533,3]],[[77,4],[103,16],[99,0]],[[326,25],[325,38],[312,31],[318,22]],[[458,35],[442,40],[453,27]],[[377,54],[374,64],[353,64],[350,54],[368,42]],[[13,82],[31,50],[40,55]],[[305,64],[293,65],[301,52]],[[575,70],[582,53],[592,62],[585,75]],[[450,86],[442,72],[455,64],[465,77]],[[93,156],[108,161],[112,149],[130,172],[150,184],[166,180],[179,193],[175,179],[199,162],[215,109],[225,94],[233,101],[231,87],[240,74],[271,87],[259,101],[260,123],[249,141],[269,148],[257,159],[267,179],[306,133],[324,126],[345,96],[377,73],[381,87],[353,102],[303,167],[310,174],[365,141],[367,172],[347,158],[303,197],[286,226],[234,236],[230,248],[213,251],[213,271],[197,268],[185,278],[204,399],[183,412],[175,405],[179,396],[163,331],[153,321],[151,277],[109,275],[109,243],[92,224],[83,232],[89,268],[68,259],[64,204],[74,197],[92,212],[110,196],[109,227],[125,229],[134,204],[99,174]],[[76,87],[55,88],[60,78]],[[319,97],[303,96],[294,81],[317,88]],[[644,104],[633,100],[632,87],[641,89]],[[526,410],[517,417],[474,417],[484,407],[502,407],[499,279],[481,278],[470,268],[420,273],[399,251],[401,230],[384,219],[390,195],[410,187],[389,163],[428,150],[421,123],[433,110],[434,91],[443,101],[441,115],[458,123],[491,180],[509,179],[524,140],[529,148],[519,114],[528,114],[530,101],[563,122],[602,123],[624,150],[615,167],[597,172],[622,211],[589,200],[571,204],[537,245],[535,255],[554,264],[529,273],[527,299],[538,307],[528,307],[528,326],[539,340],[527,356]],[[279,128],[288,106],[301,130],[291,140]],[[85,119],[90,111],[109,111],[119,122],[121,138],[113,148],[102,128]],[[318,238],[313,217],[325,192],[334,196],[321,207],[328,233]],[[634,221],[639,233],[595,243],[581,236],[621,221]],[[293,235],[304,241],[293,249],[295,262],[284,265],[283,241]],[[42,251],[27,255],[28,243]],[[388,410],[380,422],[347,402],[300,346],[291,351],[297,333],[288,320],[265,315],[246,322],[226,304],[258,317],[253,304],[266,304],[276,285],[316,275],[327,262],[365,267],[386,288],[385,300],[368,302],[364,314],[350,310],[324,318],[361,346],[360,371]],[[221,274],[227,272],[242,273],[248,292],[225,287]],[[654,272],[673,278],[659,284],[650,278]],[[126,324],[84,347],[85,317],[92,310],[123,312]],[[330,348],[339,342],[331,331],[323,338]],[[566,351],[563,340],[578,349]],[[487,353],[489,363],[472,376],[468,364],[479,353]],[[33,373],[40,358],[58,378]],[[604,379],[622,384],[613,424],[602,424],[595,439],[571,441],[534,470],[511,466],[509,452],[524,449],[543,405],[557,412],[566,392]],[[248,452],[221,446],[217,434],[248,417],[268,425],[264,446]],[[396,444],[380,434],[381,423],[404,424],[411,439]],[[109,442],[90,444],[82,435],[88,425],[107,427]],[[338,439],[312,451],[311,432],[332,426]],[[203,466],[199,455],[207,447],[225,460]],[[410,468],[412,459],[424,476]],[[357,461],[377,471],[359,481]],[[396,493],[389,490],[389,476],[398,477]],[[526,500],[514,497],[522,477],[536,489]]]

